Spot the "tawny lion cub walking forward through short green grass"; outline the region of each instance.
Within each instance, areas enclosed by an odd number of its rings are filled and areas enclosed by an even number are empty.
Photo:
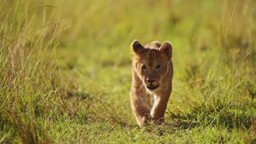
[[[150,121],[162,123],[172,91],[172,45],[153,41],[142,46],[135,40],[131,51],[134,57],[130,100],[137,123],[139,127]]]

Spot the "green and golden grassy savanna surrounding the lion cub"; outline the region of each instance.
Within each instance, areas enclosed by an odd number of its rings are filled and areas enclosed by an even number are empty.
[[[256,2],[0,4],[0,143],[255,143]],[[130,43],[171,41],[166,124],[133,116]]]

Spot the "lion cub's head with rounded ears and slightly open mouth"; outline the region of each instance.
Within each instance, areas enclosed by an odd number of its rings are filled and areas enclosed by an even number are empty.
[[[162,78],[171,73],[169,65],[172,58],[172,45],[169,42],[160,44],[153,41],[142,46],[138,40],[131,44],[133,68],[144,86],[154,91],[161,85]]]

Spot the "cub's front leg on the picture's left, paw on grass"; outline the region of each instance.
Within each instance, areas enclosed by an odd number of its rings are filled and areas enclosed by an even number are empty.
[[[146,105],[147,104],[146,102],[148,101],[148,97],[146,92],[144,91],[139,92],[136,90],[137,90],[136,88],[131,88],[131,92],[130,92],[131,107],[139,127],[142,127],[143,125],[146,125],[148,122],[150,122],[150,119],[151,119],[150,110]]]

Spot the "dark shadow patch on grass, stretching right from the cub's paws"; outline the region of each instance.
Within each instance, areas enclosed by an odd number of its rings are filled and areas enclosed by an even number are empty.
[[[205,112],[194,110],[187,115],[171,113],[167,117],[168,127],[173,130],[189,129],[196,127],[225,127],[248,131],[255,127],[255,116],[239,108],[229,108],[223,112]]]

